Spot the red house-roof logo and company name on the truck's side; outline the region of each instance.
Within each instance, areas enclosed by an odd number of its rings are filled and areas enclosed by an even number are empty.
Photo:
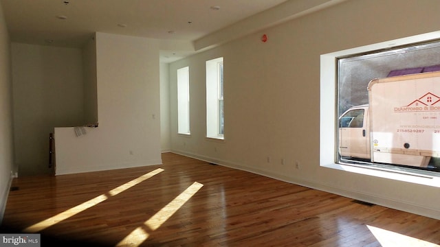
[[[395,113],[417,112],[417,111],[440,111],[440,97],[434,93],[426,93],[425,95],[415,99],[406,106],[394,108]],[[435,106],[435,105],[439,106]]]

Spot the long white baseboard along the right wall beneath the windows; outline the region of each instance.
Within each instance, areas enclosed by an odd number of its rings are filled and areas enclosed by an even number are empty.
[[[241,164],[231,163],[228,161],[222,161],[216,158],[211,158],[208,156],[201,156],[199,154],[193,154],[190,152],[184,152],[181,150],[172,150],[171,152],[175,154],[181,154],[183,156],[188,156],[190,158],[196,158],[201,161],[206,161],[208,163],[214,163],[217,165],[223,165],[225,167],[230,167],[234,169],[240,169],[245,172],[252,172],[254,174],[259,174],[261,176],[267,176],[269,178],[274,178],[276,180],[281,180],[287,183],[292,183],[295,185],[301,185],[304,187],[308,187],[311,189],[318,189],[320,191],[325,191],[329,193],[334,193],[339,196],[344,196],[347,198],[352,198],[354,200],[362,200],[364,202],[369,202],[373,204],[377,204],[383,207],[388,207],[391,209],[397,209],[400,211],[406,211],[408,213],[415,213],[417,215],[422,215],[426,217],[431,217],[436,220],[440,220],[440,210],[434,207],[426,207],[425,205],[415,204],[413,202],[395,200],[391,198],[384,198],[382,196],[377,196],[371,193],[365,193],[363,191],[355,191],[340,187],[335,187],[333,185],[325,185],[322,183],[316,183],[316,181],[305,180],[302,178],[292,178],[288,176],[283,176],[280,174],[275,174],[272,172],[267,172],[261,169],[255,169],[253,167],[248,167]]]

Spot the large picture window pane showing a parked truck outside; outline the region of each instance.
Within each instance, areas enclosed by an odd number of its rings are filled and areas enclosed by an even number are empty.
[[[336,60],[336,162],[440,174],[440,40]]]

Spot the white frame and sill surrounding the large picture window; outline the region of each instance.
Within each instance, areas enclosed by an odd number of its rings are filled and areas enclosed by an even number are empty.
[[[338,169],[345,172],[401,180],[410,183],[440,187],[440,176],[423,172],[402,172],[380,167],[338,163],[338,58],[353,54],[365,54],[380,49],[390,49],[423,43],[440,38],[440,31],[419,34],[382,43],[335,51],[320,56],[320,167]],[[333,121],[329,121],[333,119]]]

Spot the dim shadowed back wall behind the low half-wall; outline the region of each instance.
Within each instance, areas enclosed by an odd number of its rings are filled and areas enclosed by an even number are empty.
[[[12,43],[15,163],[20,176],[50,174],[49,134],[84,123],[81,49]]]

